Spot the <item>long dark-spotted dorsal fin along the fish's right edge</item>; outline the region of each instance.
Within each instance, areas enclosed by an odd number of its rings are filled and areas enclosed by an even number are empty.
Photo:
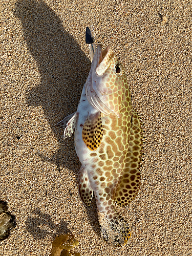
[[[139,116],[132,110],[130,144],[126,154],[125,167],[116,187],[114,200],[125,206],[136,197],[141,184],[139,172],[142,150],[142,128]]]

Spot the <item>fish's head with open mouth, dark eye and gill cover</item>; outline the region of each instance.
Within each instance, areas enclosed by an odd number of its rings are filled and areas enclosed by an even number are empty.
[[[120,116],[123,94],[128,89],[124,68],[110,46],[98,45],[86,82],[89,103],[104,115]]]

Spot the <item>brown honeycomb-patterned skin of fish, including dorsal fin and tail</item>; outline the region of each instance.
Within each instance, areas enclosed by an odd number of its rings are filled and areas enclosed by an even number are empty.
[[[89,180],[94,190],[98,215],[105,216],[102,222],[99,221],[101,236],[108,244],[120,246],[130,238],[131,230],[122,217],[117,217],[114,201],[125,206],[139,191],[142,130],[139,117],[132,109],[126,76],[124,73],[121,76],[114,74],[116,63],[118,60],[115,57],[108,70],[109,75],[103,82],[107,88],[103,100],[114,114],[105,116],[101,113],[103,138],[97,150],[90,152],[92,164],[88,168],[94,170],[90,172]],[[114,229],[112,223],[118,223],[117,219],[120,221]]]

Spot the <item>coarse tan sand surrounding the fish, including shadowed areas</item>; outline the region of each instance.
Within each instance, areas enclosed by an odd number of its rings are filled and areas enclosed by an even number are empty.
[[[16,219],[0,255],[49,255],[72,233],[90,255],[192,255],[191,1],[1,1],[0,200]],[[164,17],[166,17],[166,19]],[[132,228],[121,248],[99,236],[95,200],[76,185],[74,137],[56,123],[77,109],[91,61],[86,27],[126,69],[145,147],[136,199],[116,207]]]

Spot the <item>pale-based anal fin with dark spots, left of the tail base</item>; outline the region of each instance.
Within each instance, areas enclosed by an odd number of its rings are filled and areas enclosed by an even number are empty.
[[[93,198],[93,189],[90,186],[90,182],[88,179],[87,170],[84,169],[82,166],[79,170],[79,176],[77,179],[77,183],[79,184],[79,197],[83,204],[86,206],[91,205],[91,200]]]

